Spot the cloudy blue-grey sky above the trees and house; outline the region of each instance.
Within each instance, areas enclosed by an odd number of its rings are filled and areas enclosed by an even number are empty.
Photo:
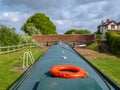
[[[69,29],[95,32],[101,20],[120,22],[120,0],[0,0],[0,23],[17,33],[27,18],[44,13],[63,34]]]

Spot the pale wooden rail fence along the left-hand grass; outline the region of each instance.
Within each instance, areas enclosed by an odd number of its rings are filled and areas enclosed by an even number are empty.
[[[22,44],[22,45],[16,45],[16,46],[0,46],[0,54],[15,52],[24,48],[32,48],[35,44]]]

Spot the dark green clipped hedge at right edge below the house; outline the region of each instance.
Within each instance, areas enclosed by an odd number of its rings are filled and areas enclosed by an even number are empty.
[[[110,47],[110,51],[113,54],[120,55],[120,33],[119,32],[107,32],[106,39]]]

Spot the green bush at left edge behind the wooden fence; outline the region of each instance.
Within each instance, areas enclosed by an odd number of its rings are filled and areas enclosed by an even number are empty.
[[[19,42],[20,36],[16,34],[15,28],[0,25],[0,46],[17,45]]]

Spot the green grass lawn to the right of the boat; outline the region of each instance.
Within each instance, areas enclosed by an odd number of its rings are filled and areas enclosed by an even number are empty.
[[[120,86],[120,59],[98,58],[90,62]]]

